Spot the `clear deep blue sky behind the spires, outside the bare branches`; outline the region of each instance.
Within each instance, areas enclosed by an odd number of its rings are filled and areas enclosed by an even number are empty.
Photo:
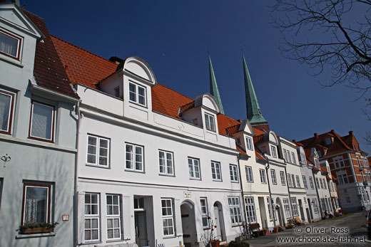
[[[365,100],[343,85],[322,88],[330,70],[308,75],[307,65],[284,58],[282,38],[270,24],[272,1],[21,1],[49,32],[110,58],[139,56],[159,83],[190,98],[209,91],[208,51],[225,115],[245,119],[241,47],[271,130],[288,140],[314,132],[353,130],[361,148],[370,130]]]

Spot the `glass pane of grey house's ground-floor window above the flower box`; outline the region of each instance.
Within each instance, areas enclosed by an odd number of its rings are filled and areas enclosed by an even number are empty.
[[[24,223],[47,222],[48,188],[26,186]]]

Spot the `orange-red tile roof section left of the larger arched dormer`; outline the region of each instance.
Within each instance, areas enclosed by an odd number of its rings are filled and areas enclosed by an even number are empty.
[[[51,36],[59,58],[73,84],[96,88],[96,83],[116,71],[117,64],[96,56],[83,48]]]

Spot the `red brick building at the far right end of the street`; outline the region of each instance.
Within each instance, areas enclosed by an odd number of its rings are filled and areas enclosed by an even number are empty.
[[[339,201],[344,211],[371,209],[371,169],[367,153],[350,131],[340,136],[335,130],[300,141],[305,149],[314,147],[320,160],[330,164],[332,176],[337,179]]]

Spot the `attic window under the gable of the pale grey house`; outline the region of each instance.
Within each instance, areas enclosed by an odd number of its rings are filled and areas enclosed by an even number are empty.
[[[19,60],[21,38],[0,29],[0,53]]]

